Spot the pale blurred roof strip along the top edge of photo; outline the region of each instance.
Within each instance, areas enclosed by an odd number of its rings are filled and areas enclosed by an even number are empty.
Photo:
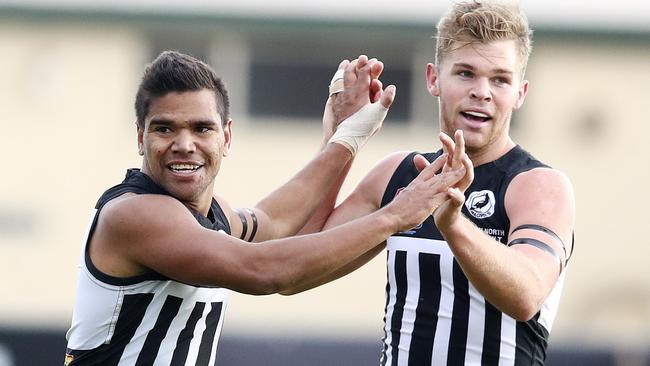
[[[3,8],[55,12],[108,12],[168,16],[213,16],[300,21],[386,22],[432,25],[453,0],[0,0]],[[517,1],[517,0],[501,0]],[[534,28],[576,31],[650,32],[650,2],[644,0],[525,0]]]

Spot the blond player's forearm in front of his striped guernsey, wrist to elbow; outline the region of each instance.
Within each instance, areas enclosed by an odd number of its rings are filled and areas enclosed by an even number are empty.
[[[531,259],[496,241],[465,217],[441,233],[474,287],[499,310],[528,320],[548,291]]]

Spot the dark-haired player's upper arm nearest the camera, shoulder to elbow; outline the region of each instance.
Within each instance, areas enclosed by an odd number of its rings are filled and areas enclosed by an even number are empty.
[[[150,269],[179,282],[245,292],[261,283],[254,246],[202,227],[166,196],[138,195],[107,205],[92,244],[93,261],[104,264],[100,269],[125,276],[139,273],[120,269]]]

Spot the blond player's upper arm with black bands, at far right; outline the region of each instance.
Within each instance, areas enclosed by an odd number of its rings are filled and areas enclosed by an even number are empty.
[[[564,174],[549,168],[537,168],[517,175],[508,186],[505,207],[511,230],[508,243],[528,238],[541,241],[563,264],[566,263],[573,245],[575,200],[571,183]],[[561,241],[542,230],[513,232],[521,225],[541,226],[557,234]],[[559,275],[558,260],[532,245],[513,245],[511,248],[529,259],[550,291]]]

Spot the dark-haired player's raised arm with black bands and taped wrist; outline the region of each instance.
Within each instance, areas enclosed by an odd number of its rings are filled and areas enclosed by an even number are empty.
[[[395,96],[393,86],[382,90],[376,80],[383,65],[360,56],[340,66],[344,69],[345,88],[330,97],[324,117],[324,135],[329,143],[291,180],[255,206],[252,212],[258,227],[252,241],[292,235],[310,217],[326,218],[362,140],[381,125]],[[344,121],[334,131],[332,126],[340,119]],[[319,207],[323,211],[314,215]],[[230,217],[237,233],[243,226],[240,215]],[[250,211],[243,217],[246,226],[255,224]],[[251,239],[249,234],[244,237]]]

